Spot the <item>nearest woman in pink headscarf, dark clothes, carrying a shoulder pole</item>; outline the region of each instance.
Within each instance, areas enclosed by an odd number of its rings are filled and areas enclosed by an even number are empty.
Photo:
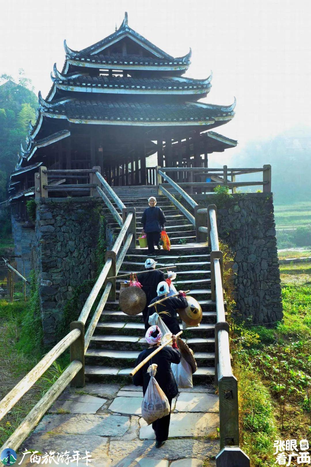
[[[148,328],[145,340],[148,342],[149,347],[138,355],[135,363],[135,367],[143,361],[148,355],[161,344],[162,333],[158,326],[151,326]],[[178,387],[171,369],[171,363],[180,363],[181,354],[176,344],[176,337],[173,335],[172,347],[166,346],[156,355],[152,357],[151,361],[145,363],[145,365],[138,370],[136,375],[133,376],[133,383],[135,386],[142,386],[143,393],[147,390],[150,375],[147,373],[149,365],[156,363],[158,365],[158,371],[155,375],[155,379],[159,383],[160,388],[166,395],[168,402],[171,406],[173,397],[178,394]],[[155,447],[159,448],[164,445],[168,438],[168,430],[170,426],[171,413],[166,417],[159,418],[152,423],[152,429],[156,435]]]

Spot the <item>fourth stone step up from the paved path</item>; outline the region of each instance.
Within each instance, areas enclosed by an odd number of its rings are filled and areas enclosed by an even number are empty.
[[[180,324],[180,330],[183,331],[185,339],[190,337],[213,337],[215,325],[213,323],[200,324],[199,327],[189,327],[182,329]],[[99,322],[96,326],[96,332],[98,334],[126,334],[128,336],[135,336],[145,334],[145,325],[143,323],[129,323],[125,320],[120,321],[107,321]]]

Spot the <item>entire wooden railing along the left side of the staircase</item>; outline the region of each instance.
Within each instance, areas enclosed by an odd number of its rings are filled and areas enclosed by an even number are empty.
[[[95,183],[98,179],[104,189],[108,192],[111,198],[117,204],[117,207],[122,212],[122,218],[114,206],[109,201],[110,205],[107,204],[111,210],[112,215],[120,222],[121,219],[121,230],[117,236],[117,239],[111,249],[106,251],[105,264],[98,276],[96,283],[94,284],[89,297],[87,298],[83,309],[80,313],[78,321],[73,321],[70,324],[70,332],[58,342],[49,352],[46,354],[41,361],[16,385],[14,388],[0,401],[0,420],[14,407],[14,405],[21,399],[21,397],[38,381],[45,371],[52,365],[52,363],[70,347],[70,364],[64,370],[62,375],[57,381],[51,386],[50,389],[41,397],[40,401],[35,404],[35,407],[30,410],[28,415],[24,418],[14,433],[7,439],[5,444],[0,448],[0,452],[4,448],[9,447],[15,451],[21,446],[21,443],[27,438],[31,430],[37,425],[41,417],[49,409],[49,407],[55,402],[57,397],[62,393],[66,386],[70,383],[73,387],[84,386],[84,354],[90,344],[93,332],[96,328],[97,322],[104,309],[104,305],[108,299],[116,299],[116,280],[112,279],[107,281],[107,277],[116,276],[119,271],[121,264],[124,260],[128,248],[135,248],[136,245],[136,212],[135,208],[126,208],[122,201],[117,197],[116,193],[107,184],[104,178],[100,175],[100,168],[93,167],[90,170],[83,170],[90,174],[91,184],[94,185],[91,188],[94,192],[98,193],[104,201],[107,201],[107,197],[104,191],[99,186],[100,184]],[[46,197],[48,191],[47,175],[53,172],[53,175],[63,170],[47,170],[46,168],[40,168],[39,177],[36,177],[37,188],[39,191],[36,193],[42,194]],[[66,172],[66,171],[65,171]],[[79,170],[70,170],[71,173],[79,173]],[[67,172],[66,172],[67,173]],[[107,198],[107,199],[106,199]],[[112,206],[112,208],[111,208]],[[124,243],[124,245],[123,245]],[[123,246],[122,246],[123,245]],[[118,256],[118,258],[117,258]],[[91,308],[102,289],[105,286],[104,292],[99,300],[97,308],[90,320],[90,324],[86,332],[84,333],[84,325],[86,320],[89,318]]]

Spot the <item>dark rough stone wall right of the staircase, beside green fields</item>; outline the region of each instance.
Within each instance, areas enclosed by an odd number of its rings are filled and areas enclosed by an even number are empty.
[[[217,209],[220,239],[235,253],[237,317],[256,324],[283,318],[272,193],[234,194]],[[216,195],[194,195],[217,205]]]

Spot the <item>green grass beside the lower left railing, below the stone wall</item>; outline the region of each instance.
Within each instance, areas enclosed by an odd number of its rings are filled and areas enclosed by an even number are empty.
[[[8,303],[0,300],[0,399],[41,360],[48,350],[42,346],[41,317],[38,295],[33,288],[28,302]],[[54,362],[35,385],[18,401],[9,414],[0,421],[0,445],[20,425],[42,395],[51,387],[69,362],[68,352]]]

